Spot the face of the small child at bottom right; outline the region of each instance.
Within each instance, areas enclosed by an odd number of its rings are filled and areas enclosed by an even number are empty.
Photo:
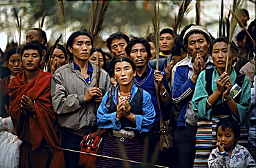
[[[220,126],[217,129],[217,133],[217,139],[221,143],[221,145],[224,145],[224,149],[226,151],[232,151],[232,149],[235,148],[235,142],[237,141],[237,139],[235,139],[235,135],[232,129],[226,129],[225,131],[223,131]]]

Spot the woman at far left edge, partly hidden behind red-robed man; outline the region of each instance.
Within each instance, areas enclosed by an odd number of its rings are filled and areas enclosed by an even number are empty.
[[[10,85],[10,83],[12,82],[13,78],[15,78],[15,76],[17,74],[19,74],[19,72],[21,72],[22,69],[22,63],[21,63],[21,54],[20,54],[20,50],[19,48],[12,48],[8,53],[7,53],[7,61],[8,61],[8,68],[10,70],[10,75],[7,76],[6,78],[3,78],[3,80],[1,80],[1,101],[3,102],[3,106],[4,108],[3,111],[1,112],[0,116],[6,117],[8,116],[8,114],[6,112],[8,112],[8,92],[9,92],[9,88],[8,86]]]

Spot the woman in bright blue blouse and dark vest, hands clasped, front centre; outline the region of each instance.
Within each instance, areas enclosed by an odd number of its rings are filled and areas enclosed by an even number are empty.
[[[134,85],[136,66],[131,59],[118,58],[113,63],[113,72],[119,85],[104,95],[97,112],[98,127],[107,129],[100,154],[114,158],[127,154],[128,160],[142,162],[143,135],[152,128],[155,116],[151,96]],[[122,134],[128,132],[131,136]],[[124,146],[123,150],[118,145]],[[133,162],[127,164],[134,165]],[[120,160],[100,157],[97,167],[123,166]]]

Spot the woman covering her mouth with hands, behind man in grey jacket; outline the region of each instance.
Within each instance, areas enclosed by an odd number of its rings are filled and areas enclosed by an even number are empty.
[[[59,67],[68,63],[68,52],[66,52],[66,48],[60,44],[57,44],[53,54],[50,56],[52,50],[53,45],[47,51],[46,62],[48,63],[47,72],[54,74]]]

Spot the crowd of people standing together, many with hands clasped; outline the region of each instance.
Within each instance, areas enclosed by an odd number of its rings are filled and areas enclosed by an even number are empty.
[[[106,129],[100,155],[133,162],[99,157],[97,167],[256,167],[255,26],[253,40],[237,28],[236,42],[201,25],[175,39],[165,28],[159,49],[152,34],[116,32],[109,53],[85,30],[47,50],[45,32],[33,28],[23,48],[1,54],[0,147],[11,132],[22,140],[19,157],[6,156],[17,167],[80,167],[83,136]],[[161,118],[172,127],[169,151],[158,151]]]

